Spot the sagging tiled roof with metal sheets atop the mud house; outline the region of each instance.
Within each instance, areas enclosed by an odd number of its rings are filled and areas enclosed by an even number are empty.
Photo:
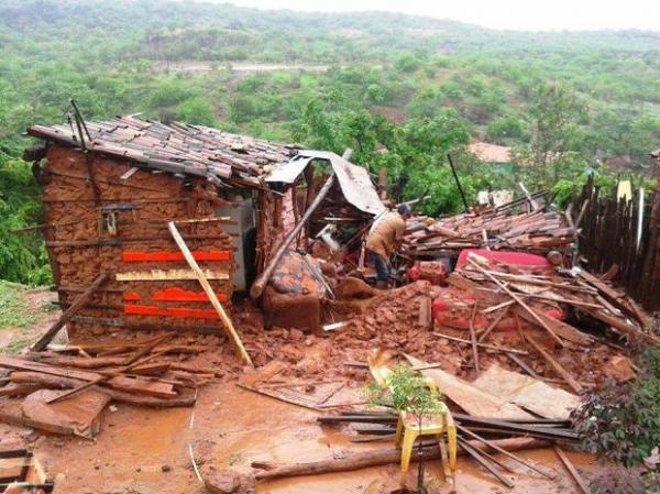
[[[74,124],[33,125],[28,133],[58,144],[130,160],[140,166],[206,178],[218,187],[267,188],[293,184],[312,160],[328,161],[345,199],[361,211],[385,209],[366,169],[331,152],[232,134],[204,125],[119,117],[85,122],[80,138]]]

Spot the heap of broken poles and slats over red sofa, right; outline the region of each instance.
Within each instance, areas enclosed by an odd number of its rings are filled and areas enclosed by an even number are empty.
[[[660,341],[652,333],[650,319],[634,300],[579,267],[539,273],[488,262],[470,253],[466,264],[449,276],[449,284],[448,293],[458,294],[458,301],[453,305],[447,299],[440,305],[436,301],[436,323],[438,319],[466,321],[470,337],[463,341],[472,348],[472,353],[463,359],[462,365],[473,367],[476,374],[483,369],[481,348],[495,342],[488,339],[494,339],[496,329],[514,334],[518,349],[540,356],[544,369],[550,369],[576,394],[584,392],[585,384],[594,384],[591,380],[585,383],[587,373],[596,378],[606,377],[604,362],[587,362],[587,359],[598,359],[600,349],[608,347],[625,353],[609,343],[608,337],[651,344]],[[440,310],[447,306],[453,311],[451,317]],[[462,312],[462,319],[458,312]],[[552,377],[539,375],[528,356],[510,351],[504,354],[532,377]]]

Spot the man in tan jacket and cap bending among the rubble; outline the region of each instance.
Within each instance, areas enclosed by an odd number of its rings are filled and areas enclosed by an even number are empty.
[[[399,246],[410,218],[410,206],[403,204],[396,211],[376,218],[366,237],[369,262],[376,268],[376,288],[387,288],[389,283],[389,257]]]

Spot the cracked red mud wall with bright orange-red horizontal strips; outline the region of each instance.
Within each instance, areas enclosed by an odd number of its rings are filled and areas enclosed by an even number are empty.
[[[129,161],[51,145],[42,177],[46,246],[59,303],[67,307],[101,273],[111,279],[68,325],[85,340],[131,330],[218,327],[220,322],[196,279],[118,281],[116,275],[152,270],[188,270],[167,229],[172,220],[215,216],[215,189],[204,180],[140,168]],[[116,231],[105,224],[116,218]],[[202,270],[227,274],[210,281],[223,304],[231,301],[234,243],[222,223],[177,224]],[[154,260],[154,256],[156,260]],[[130,261],[134,259],[134,261]],[[173,310],[174,309],[174,310]]]

